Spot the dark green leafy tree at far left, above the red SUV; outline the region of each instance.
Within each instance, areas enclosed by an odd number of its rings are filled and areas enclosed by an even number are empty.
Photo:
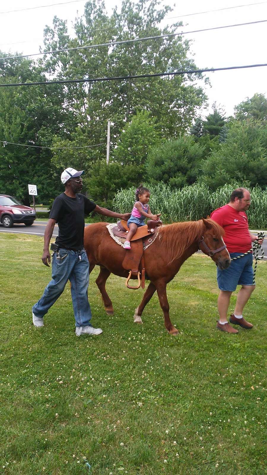
[[[0,62],[2,83],[43,80],[40,67],[28,59]],[[48,90],[41,86],[1,88],[0,140],[5,141],[0,142],[1,193],[29,204],[28,183],[37,185],[42,201],[57,192],[59,180],[51,165],[52,153],[49,148],[38,146],[51,146],[53,135],[60,134],[60,123],[64,120],[61,100],[62,86],[52,85]]]

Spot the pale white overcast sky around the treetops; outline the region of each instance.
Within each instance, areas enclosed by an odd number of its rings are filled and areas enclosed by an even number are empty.
[[[64,0],[10,0],[0,1],[0,50],[22,54],[36,53],[42,45],[43,29],[51,26],[54,15],[68,20],[69,31],[71,22],[78,15],[82,15],[85,0],[57,5],[47,8],[38,8],[20,12],[3,13],[7,10],[49,5]],[[65,0],[67,1],[67,0]],[[215,10],[255,2],[256,0],[187,0],[176,2],[164,1],[162,4],[173,6],[168,17],[197,13],[205,10]],[[120,1],[109,0],[108,12],[111,13]],[[188,17],[181,17],[183,31],[217,26],[231,25],[267,19],[267,1],[254,6],[246,6],[231,10],[205,13]],[[166,23],[176,22],[178,19],[163,20]],[[236,28],[192,33],[186,35],[192,40],[191,55],[194,55],[195,64],[203,67],[243,66],[257,63],[267,63],[267,23],[248,25]],[[138,73],[138,72],[137,72]],[[211,104],[217,104],[225,109],[227,115],[234,112],[234,106],[255,93],[267,94],[267,66],[251,69],[219,71],[209,73],[211,87],[205,86]],[[148,79],[149,80],[149,79]],[[206,115],[207,111],[203,111]]]

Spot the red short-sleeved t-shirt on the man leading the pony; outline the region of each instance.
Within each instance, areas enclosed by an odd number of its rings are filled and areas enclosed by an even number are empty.
[[[223,240],[229,253],[249,251],[251,237],[248,230],[248,217],[244,211],[237,211],[225,205],[212,211],[210,218],[224,229]]]

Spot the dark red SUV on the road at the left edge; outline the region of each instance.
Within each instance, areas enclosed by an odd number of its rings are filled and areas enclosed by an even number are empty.
[[[5,228],[11,228],[14,223],[33,224],[36,219],[34,209],[22,205],[9,195],[0,195],[0,223]]]

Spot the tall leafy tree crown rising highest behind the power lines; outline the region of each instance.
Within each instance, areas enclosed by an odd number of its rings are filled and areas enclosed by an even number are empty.
[[[161,28],[170,7],[160,7],[158,0],[123,0],[121,11],[109,16],[101,0],[86,2],[85,13],[76,19],[75,38],[67,35],[67,22],[54,19],[45,30],[49,50],[83,45],[127,41],[129,39],[174,33],[182,24]],[[65,36],[64,36],[65,35]],[[94,47],[55,53],[44,58],[45,71],[58,79],[132,76],[195,69],[189,58],[189,42],[181,36],[124,43],[113,47]],[[125,122],[138,110],[147,110],[156,118],[157,129],[165,137],[177,137],[188,130],[192,119],[205,101],[195,79],[201,75],[99,81],[65,86],[68,115],[65,130],[70,140],[77,127],[87,143],[103,142],[108,120],[114,123],[111,146],[116,145]]]

